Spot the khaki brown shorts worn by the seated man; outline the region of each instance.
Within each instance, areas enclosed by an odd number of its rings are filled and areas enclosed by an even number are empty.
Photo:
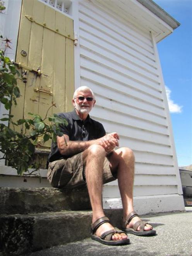
[[[86,186],[82,154],[83,152],[49,163],[47,179],[51,186],[65,188]],[[115,179],[117,177],[111,174],[110,162],[106,157],[103,165],[103,184]]]

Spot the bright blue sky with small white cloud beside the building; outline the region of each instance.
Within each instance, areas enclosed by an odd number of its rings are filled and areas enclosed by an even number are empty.
[[[181,25],[158,43],[179,166],[192,164],[192,0],[154,0]]]

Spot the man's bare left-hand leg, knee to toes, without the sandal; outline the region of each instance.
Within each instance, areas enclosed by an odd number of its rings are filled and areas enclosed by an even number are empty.
[[[103,163],[105,160],[105,149],[100,145],[92,145],[83,153],[87,189],[91,201],[94,223],[98,218],[105,216],[102,206],[103,189]],[[96,235],[101,236],[104,232],[113,229],[110,223],[103,223],[97,230]],[[126,239],[125,233],[114,234],[113,240]]]

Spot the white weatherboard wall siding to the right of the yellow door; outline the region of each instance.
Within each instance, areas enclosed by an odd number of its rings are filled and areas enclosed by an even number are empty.
[[[97,101],[92,117],[134,151],[136,210],[183,210],[153,35],[116,19],[104,1],[79,1],[79,44],[81,86]],[[104,186],[103,197],[105,208],[122,207],[117,181]]]

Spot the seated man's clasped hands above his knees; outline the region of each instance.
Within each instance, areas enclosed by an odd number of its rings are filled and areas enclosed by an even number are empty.
[[[98,140],[99,145],[101,145],[105,149],[106,153],[110,153],[116,146],[119,146],[118,139],[119,136],[117,132],[112,132]]]

